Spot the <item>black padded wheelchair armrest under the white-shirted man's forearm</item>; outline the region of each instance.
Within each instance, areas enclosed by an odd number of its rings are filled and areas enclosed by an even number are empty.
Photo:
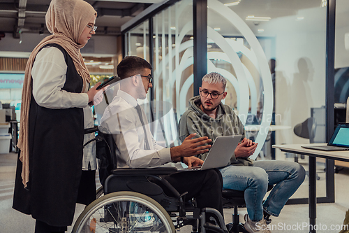
[[[154,168],[124,168],[114,169],[112,174],[117,176],[138,176],[138,175],[170,175],[177,172],[176,167],[154,167]]]

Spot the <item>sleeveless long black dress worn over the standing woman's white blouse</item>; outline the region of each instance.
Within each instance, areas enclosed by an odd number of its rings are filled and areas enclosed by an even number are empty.
[[[68,66],[63,90],[81,93],[83,80],[66,50]],[[38,106],[33,95],[29,109],[29,183],[22,184],[18,160],[13,209],[31,214],[52,226],[73,223],[77,190],[82,173],[84,113],[82,108],[52,109]]]

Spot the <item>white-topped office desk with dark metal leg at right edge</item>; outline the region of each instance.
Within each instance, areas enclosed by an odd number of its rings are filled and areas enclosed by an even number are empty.
[[[316,232],[312,229],[316,220],[316,157],[322,157],[330,160],[340,160],[349,162],[349,151],[322,151],[302,148],[309,144],[291,144],[274,145],[273,148],[279,148],[281,151],[296,153],[309,156],[309,225],[310,232]],[[326,143],[313,143],[312,146],[322,146]]]

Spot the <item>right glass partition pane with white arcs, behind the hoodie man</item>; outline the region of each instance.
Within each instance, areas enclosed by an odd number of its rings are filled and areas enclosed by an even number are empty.
[[[252,157],[307,167],[308,157],[274,151],[271,144],[325,142],[327,8],[318,0],[207,5],[208,72],[228,79],[225,103],[258,142]],[[312,122],[311,135],[297,133],[303,122]],[[326,196],[324,169],[325,160],[318,160],[320,197]],[[307,192],[308,186],[300,189]]]

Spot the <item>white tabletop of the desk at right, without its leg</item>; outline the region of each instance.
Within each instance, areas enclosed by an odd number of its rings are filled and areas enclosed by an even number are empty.
[[[283,144],[273,145],[273,148],[279,148],[291,153],[299,153],[304,155],[315,155],[316,157],[324,157],[332,160],[341,160],[349,162],[349,150],[346,151],[324,151],[302,148],[302,146],[325,146],[327,143],[312,143],[312,144]]]

